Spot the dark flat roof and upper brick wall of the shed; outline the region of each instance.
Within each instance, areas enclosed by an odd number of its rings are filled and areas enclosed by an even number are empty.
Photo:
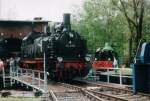
[[[32,21],[20,21],[20,20],[0,20],[0,37],[4,38],[23,38],[26,34],[35,30],[37,32],[43,32],[44,26],[48,25],[49,21],[32,20]]]

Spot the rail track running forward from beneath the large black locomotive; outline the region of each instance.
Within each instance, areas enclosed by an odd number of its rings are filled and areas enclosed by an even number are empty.
[[[50,85],[51,101],[104,101],[81,87],[66,83]]]

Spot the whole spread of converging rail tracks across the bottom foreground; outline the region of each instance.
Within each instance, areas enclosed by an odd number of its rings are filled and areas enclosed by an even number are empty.
[[[78,81],[77,81],[78,82]],[[68,84],[57,82],[49,85],[50,101],[150,101],[150,95],[115,87],[84,81]]]

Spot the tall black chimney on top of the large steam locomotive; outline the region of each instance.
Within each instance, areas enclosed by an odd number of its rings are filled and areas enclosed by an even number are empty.
[[[71,30],[70,13],[65,13],[63,15],[63,24],[65,28],[67,28],[68,30]]]

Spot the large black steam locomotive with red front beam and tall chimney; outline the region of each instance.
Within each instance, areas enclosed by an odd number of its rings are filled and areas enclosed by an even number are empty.
[[[48,29],[48,28],[47,28]],[[64,14],[63,23],[53,32],[31,32],[21,47],[23,64],[37,63],[35,69],[43,68],[43,52],[46,54],[47,72],[51,79],[71,80],[88,74],[90,57],[87,56],[86,40],[71,30],[70,14]]]

